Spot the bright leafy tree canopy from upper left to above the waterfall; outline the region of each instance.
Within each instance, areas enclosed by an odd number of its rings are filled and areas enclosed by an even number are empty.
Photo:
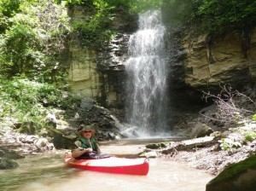
[[[60,58],[71,34],[79,33],[84,46],[102,46],[115,33],[111,28],[115,9],[143,12],[160,4],[159,0],[2,0],[0,75],[25,74],[40,82],[54,82],[65,76]],[[67,6],[73,5],[90,11],[90,18],[71,23]]]

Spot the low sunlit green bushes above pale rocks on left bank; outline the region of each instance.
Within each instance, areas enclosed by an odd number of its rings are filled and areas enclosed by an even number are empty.
[[[51,84],[30,81],[27,78],[0,78],[1,116],[44,124],[44,117],[52,107],[69,108],[79,98],[55,88]]]

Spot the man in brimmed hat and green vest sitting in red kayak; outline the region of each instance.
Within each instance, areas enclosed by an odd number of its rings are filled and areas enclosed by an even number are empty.
[[[101,153],[98,142],[95,138],[94,128],[91,125],[84,126],[82,124],[82,129],[79,130],[79,140],[75,142],[78,148],[74,149],[72,152],[72,157],[76,159],[90,159],[96,156],[96,154]]]

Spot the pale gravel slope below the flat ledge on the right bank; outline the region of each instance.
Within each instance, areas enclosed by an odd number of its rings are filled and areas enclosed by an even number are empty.
[[[224,151],[219,148],[219,143],[204,148],[184,148],[171,153],[159,153],[160,158],[172,159],[189,167],[207,171],[212,175],[218,175],[230,164],[247,159],[250,154],[256,152],[256,142],[252,142],[246,148],[234,151]]]

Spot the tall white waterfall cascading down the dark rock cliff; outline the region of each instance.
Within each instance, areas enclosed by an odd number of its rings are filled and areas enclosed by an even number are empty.
[[[139,30],[129,41],[126,118],[139,136],[166,130],[165,32],[160,11],[151,10],[139,14]]]

